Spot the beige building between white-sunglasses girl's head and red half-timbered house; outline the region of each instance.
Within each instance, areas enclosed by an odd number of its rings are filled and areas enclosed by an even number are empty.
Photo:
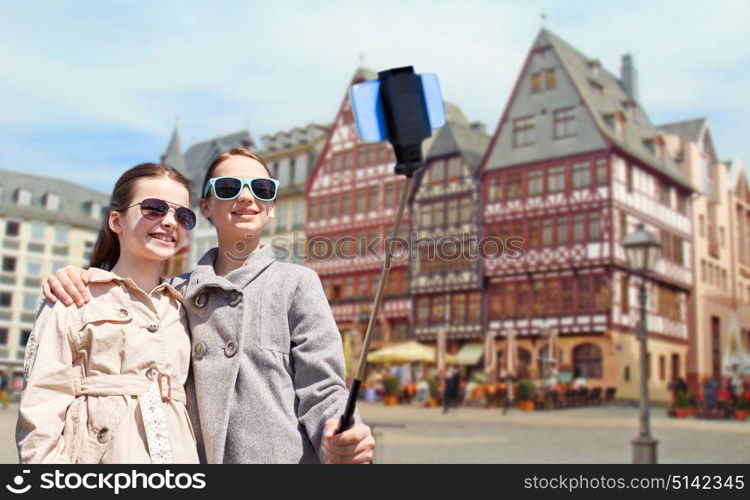
[[[264,135],[261,157],[279,180],[274,218],[263,233],[287,262],[301,264],[305,245],[305,186],[325,144],[328,128],[311,123],[288,131]]]

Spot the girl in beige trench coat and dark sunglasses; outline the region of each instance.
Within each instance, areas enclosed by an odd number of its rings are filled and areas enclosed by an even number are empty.
[[[46,302],[26,346],[21,463],[197,463],[182,294],[160,281],[195,226],[188,181],[138,165],[115,184],[80,309]]]

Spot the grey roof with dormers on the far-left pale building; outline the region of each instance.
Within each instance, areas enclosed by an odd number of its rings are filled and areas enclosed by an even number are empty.
[[[55,177],[22,174],[0,169],[0,214],[32,220],[44,220],[96,230],[102,225],[101,218],[91,217],[90,203],[98,203],[104,209],[109,205],[109,195]],[[18,205],[16,192],[27,189],[31,192],[30,205]],[[44,206],[45,196],[54,193],[60,197],[57,210]],[[102,212],[103,213],[103,212]]]

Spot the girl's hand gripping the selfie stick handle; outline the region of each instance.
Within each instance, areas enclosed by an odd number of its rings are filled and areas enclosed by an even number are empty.
[[[375,449],[375,439],[365,424],[354,424],[341,434],[336,434],[338,419],[326,420],[323,432],[323,460],[327,464],[369,464]]]

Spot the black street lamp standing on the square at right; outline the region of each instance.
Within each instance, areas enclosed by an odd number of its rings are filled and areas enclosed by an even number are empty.
[[[641,321],[638,324],[637,335],[641,343],[641,429],[633,443],[633,463],[655,464],[658,441],[651,437],[649,428],[649,399],[648,399],[648,335],[646,328],[646,280],[653,270],[659,252],[659,241],[653,234],[646,231],[643,224],[638,224],[635,232],[628,234],[622,240],[625,257],[633,274],[641,277],[638,298],[641,306]]]

